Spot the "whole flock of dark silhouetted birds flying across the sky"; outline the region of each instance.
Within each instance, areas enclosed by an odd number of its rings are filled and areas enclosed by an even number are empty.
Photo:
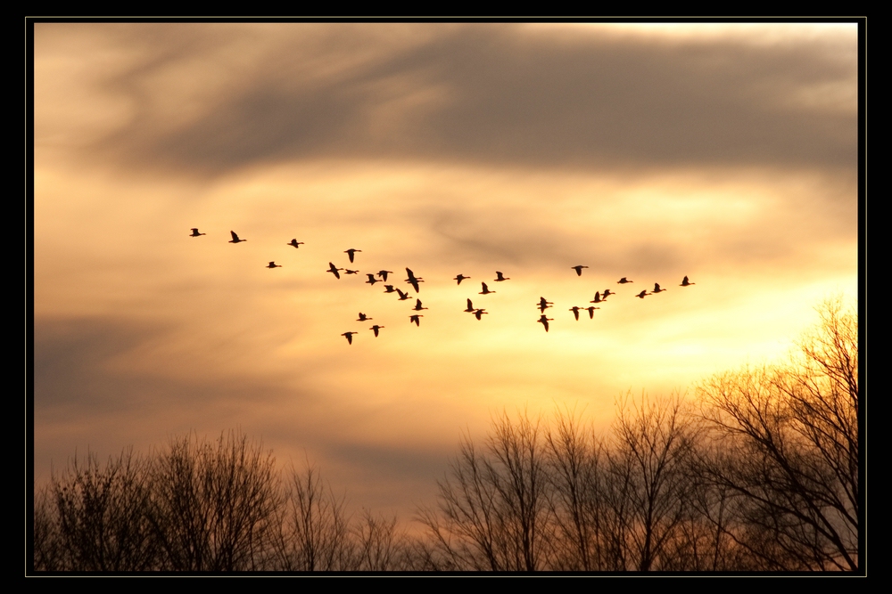
[[[230,240],[229,243],[242,243],[243,241],[247,241],[247,240],[240,239],[234,231],[230,231],[229,233],[232,235],[232,240]],[[197,228],[193,228],[190,237],[201,237],[202,235],[205,235],[205,233],[199,232]],[[286,243],[285,245],[292,246],[293,248],[300,248],[300,246],[304,245],[304,242],[293,239],[293,240],[289,241],[288,243]],[[350,248],[350,249],[345,249],[343,253],[345,253],[347,255],[347,257],[350,259],[350,264],[353,264],[356,254],[360,253],[360,252],[362,252],[361,249]],[[269,264],[266,265],[266,268],[281,268],[281,267],[282,267],[282,265],[276,264],[275,261],[270,261]],[[588,268],[588,266],[583,266],[582,264],[577,264],[575,266],[570,267],[571,270],[576,271],[577,276],[582,276],[583,268]],[[328,270],[326,270],[326,273],[332,273],[335,276],[335,279],[340,280],[342,272],[344,274],[359,274],[358,270],[352,270],[350,268],[338,268],[337,266],[335,266],[335,264],[333,262],[328,263]],[[388,274],[393,274],[393,271],[392,270],[380,270],[377,273],[366,273],[366,276],[368,277],[368,281],[366,281],[366,284],[374,286],[376,282],[387,282]],[[415,273],[413,273],[409,268],[406,268],[406,274],[409,276],[409,278],[405,279],[404,282],[409,283],[409,285],[412,286],[412,289],[415,289],[416,293],[420,293],[421,289],[420,289],[420,286],[418,283],[424,282],[425,280],[423,278],[421,278],[420,276],[416,276]],[[376,277],[379,277],[379,278],[376,278]],[[470,278],[471,277],[465,276],[464,274],[458,274],[452,280],[457,281],[457,284],[460,285],[461,281],[466,281]],[[503,281],[510,281],[510,280],[511,280],[511,277],[507,277],[500,271],[496,271],[496,278],[493,279],[492,282],[503,282]],[[624,285],[624,284],[628,284],[628,283],[632,283],[632,282],[634,282],[634,281],[630,281],[626,277],[623,277],[619,281],[616,281],[616,284]],[[685,276],[684,279],[681,280],[681,284],[679,286],[680,287],[690,287],[691,285],[694,285],[694,284],[697,284],[697,283],[690,282],[688,280],[688,277]],[[496,292],[494,290],[491,290],[489,287],[487,287],[485,282],[481,282],[481,285],[482,285],[483,290],[481,290],[478,293],[478,295],[490,295],[491,293]],[[385,284],[384,289],[385,289],[384,293],[396,293],[399,296],[398,297],[399,301],[407,301],[407,300],[412,299],[412,296],[410,296],[408,292],[404,292],[401,289],[394,287],[393,285]],[[660,284],[658,282],[655,282],[653,291],[648,293],[648,290],[644,289],[640,293],[635,295],[635,297],[639,297],[640,299],[643,299],[644,297],[648,297],[648,295],[657,295],[659,293],[664,292],[665,290],[667,290],[667,289],[662,289],[660,287]],[[600,293],[598,291],[595,291],[595,298],[592,299],[589,303],[594,303],[594,304],[605,303],[607,301],[607,297],[610,297],[611,295],[615,295],[615,292],[611,291],[610,289],[604,289],[604,291],[600,292]],[[541,325],[545,328],[546,332],[549,331],[549,321],[554,321],[554,318],[549,318],[546,315],[545,310],[549,309],[549,307],[553,307],[553,306],[554,306],[554,304],[551,301],[548,301],[545,297],[540,297],[539,303],[536,304],[536,308],[541,313],[541,316],[539,317],[539,320],[537,320],[537,322],[541,323]],[[415,307],[413,307],[411,311],[422,312],[425,309],[427,309],[427,307],[422,305],[421,299],[418,297],[415,297]],[[597,305],[590,305],[588,307],[574,305],[568,311],[573,312],[574,318],[576,319],[576,321],[579,321],[579,312],[580,311],[587,311],[589,313],[589,318],[594,319],[596,309],[600,309],[600,307]],[[482,307],[475,307],[472,304],[470,298],[467,299],[467,308],[464,311],[467,313],[473,313],[474,317],[477,320],[482,320],[483,315],[486,315],[489,313]],[[416,326],[420,326],[421,318],[423,318],[423,317],[425,317],[425,316],[421,313],[410,314],[409,315],[409,323],[414,323]],[[372,320],[372,318],[369,318],[368,315],[366,315],[365,313],[359,312],[359,318],[356,321],[371,321],[371,320]],[[375,324],[368,330],[372,330],[373,332],[375,332],[375,336],[377,338],[379,331],[382,330],[383,328],[384,328],[384,326]],[[352,345],[354,334],[359,334],[359,332],[354,332],[354,331],[343,332],[343,334],[341,334],[341,336],[343,336],[344,338],[347,338],[347,342]]]

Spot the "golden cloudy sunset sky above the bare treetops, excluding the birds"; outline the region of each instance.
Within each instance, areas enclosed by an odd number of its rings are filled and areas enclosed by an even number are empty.
[[[408,521],[502,412],[608,427],[856,296],[855,24],[34,31],[37,481],[237,428]]]

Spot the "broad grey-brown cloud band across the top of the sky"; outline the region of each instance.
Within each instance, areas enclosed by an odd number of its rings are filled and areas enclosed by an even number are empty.
[[[834,85],[854,93],[854,53],[840,57],[845,46],[826,38],[681,43],[476,24],[406,26],[426,35],[397,43],[395,26],[320,25],[315,37],[304,35],[307,26],[293,37],[281,27],[267,39],[257,27],[118,26],[117,43],[145,56],[106,88],[130,97],[136,111],[95,149],[131,166],[200,175],[325,157],[855,167],[854,110],[803,100],[820,100]],[[221,65],[227,47],[246,37],[263,51]],[[357,63],[331,66],[345,55]],[[158,103],[184,92],[157,81],[202,67],[233,72],[192,116],[171,123]]]

